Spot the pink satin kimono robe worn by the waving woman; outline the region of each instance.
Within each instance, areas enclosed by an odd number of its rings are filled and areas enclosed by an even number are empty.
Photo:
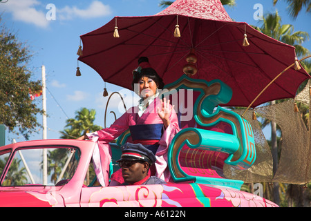
[[[93,163],[96,174],[101,174],[100,177],[104,177],[104,182],[98,180],[102,186],[108,186],[109,164],[111,160],[111,150],[109,142],[115,140],[129,126],[138,124],[162,124],[162,119],[158,116],[157,107],[160,107],[160,99],[157,97],[149,104],[141,117],[138,115],[138,106],[129,108],[119,119],[117,119],[109,128],[104,128],[95,133],[87,134],[89,139],[99,140],[100,157],[93,155]],[[167,166],[167,151],[169,144],[173,137],[180,131],[178,126],[178,117],[176,112],[171,111],[169,116],[170,124],[167,128],[163,127],[162,137],[159,141],[158,151],[156,152],[156,176],[160,177],[165,182],[169,182],[171,177]],[[106,156],[110,155],[110,156]],[[108,158],[107,158],[108,157]],[[109,160],[110,159],[110,160]],[[108,160],[108,162],[107,162]],[[97,175],[98,178],[98,175]]]

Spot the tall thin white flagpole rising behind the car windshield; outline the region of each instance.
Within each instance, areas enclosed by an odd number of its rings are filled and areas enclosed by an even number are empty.
[[[42,129],[43,129],[43,140],[47,139],[47,125],[46,125],[46,67],[43,65],[42,70],[42,110],[44,114],[42,115]],[[47,150],[43,149],[43,184],[48,184],[48,159]]]

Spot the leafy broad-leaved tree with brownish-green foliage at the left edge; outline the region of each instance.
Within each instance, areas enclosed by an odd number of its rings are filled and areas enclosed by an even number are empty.
[[[1,17],[0,17],[1,23]],[[37,131],[37,113],[42,111],[32,102],[30,90],[41,90],[40,81],[30,80],[27,67],[32,55],[17,37],[0,26],[0,124],[13,133],[21,133],[28,140]],[[18,132],[19,131],[19,132]]]

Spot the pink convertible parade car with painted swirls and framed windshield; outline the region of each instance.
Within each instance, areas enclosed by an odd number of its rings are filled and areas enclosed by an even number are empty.
[[[48,148],[46,185],[41,181],[44,148]],[[86,186],[94,148],[95,142],[80,140],[37,140],[2,146],[0,206],[277,206],[238,188],[200,182]]]

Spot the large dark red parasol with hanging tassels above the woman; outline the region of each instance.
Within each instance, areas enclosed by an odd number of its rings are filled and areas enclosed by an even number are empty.
[[[220,79],[232,88],[226,106],[249,106],[296,58],[293,46],[267,37],[247,23],[232,21],[219,0],[176,0],[157,15],[115,17],[81,39],[79,61],[95,69],[104,81],[129,89],[139,57],[149,57],[151,66],[169,84],[184,74],[190,54],[187,68],[197,70],[190,77]],[[299,85],[309,78],[303,68],[292,66],[252,107],[294,97]]]

